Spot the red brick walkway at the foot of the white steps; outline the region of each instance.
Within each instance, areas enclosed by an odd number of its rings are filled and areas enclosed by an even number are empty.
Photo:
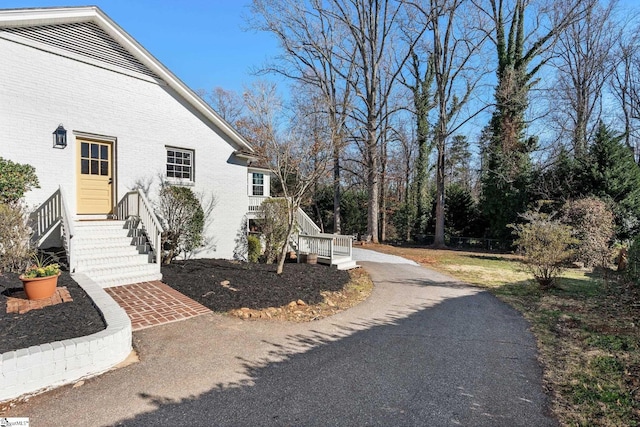
[[[134,331],[211,312],[158,281],[105,288],[105,291],[127,312]]]

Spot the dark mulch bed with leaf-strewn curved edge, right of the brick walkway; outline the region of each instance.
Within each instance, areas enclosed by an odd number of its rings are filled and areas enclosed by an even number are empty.
[[[320,319],[364,300],[373,286],[361,270],[287,263],[279,276],[273,264],[219,259],[174,261],[162,276],[209,309],[244,319]]]

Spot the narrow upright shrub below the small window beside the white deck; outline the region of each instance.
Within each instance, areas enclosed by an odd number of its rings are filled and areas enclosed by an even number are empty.
[[[284,199],[267,199],[260,205],[256,220],[265,239],[264,257],[267,264],[274,263],[287,238],[289,208]]]

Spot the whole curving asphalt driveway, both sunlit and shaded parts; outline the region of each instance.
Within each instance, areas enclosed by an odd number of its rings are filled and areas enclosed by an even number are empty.
[[[552,426],[526,321],[408,263],[294,324],[203,315],[134,333],[140,362],[19,405],[33,425]],[[286,268],[286,267],[285,267]]]

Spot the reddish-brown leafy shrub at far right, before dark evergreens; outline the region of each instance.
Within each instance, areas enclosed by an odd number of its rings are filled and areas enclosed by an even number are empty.
[[[567,202],[563,222],[573,227],[576,238],[576,260],[587,267],[606,268],[611,261],[611,239],[615,231],[613,212],[605,202],[585,198]]]

